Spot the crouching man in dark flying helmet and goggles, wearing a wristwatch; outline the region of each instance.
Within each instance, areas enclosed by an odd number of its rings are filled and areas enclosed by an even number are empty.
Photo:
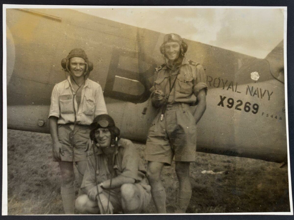
[[[113,119],[102,114],[91,126],[87,159],[81,188],[76,199],[81,213],[125,214],[141,213],[151,199],[146,170],[136,147],[127,139],[119,138]]]

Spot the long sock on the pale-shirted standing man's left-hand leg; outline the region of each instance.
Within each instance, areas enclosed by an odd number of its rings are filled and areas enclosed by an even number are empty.
[[[61,187],[61,198],[65,214],[74,214],[74,186]]]

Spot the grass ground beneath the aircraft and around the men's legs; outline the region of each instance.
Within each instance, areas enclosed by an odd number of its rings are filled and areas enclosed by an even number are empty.
[[[8,130],[7,143],[8,214],[64,214],[60,170],[52,161],[50,135]],[[136,146],[143,158],[145,145]],[[168,213],[176,206],[178,181],[174,168],[174,163],[165,167],[162,175]],[[202,174],[203,170],[225,172],[211,175]],[[197,153],[190,173],[193,193],[188,213],[290,211],[288,170],[280,164]],[[152,201],[147,213],[156,213]]]

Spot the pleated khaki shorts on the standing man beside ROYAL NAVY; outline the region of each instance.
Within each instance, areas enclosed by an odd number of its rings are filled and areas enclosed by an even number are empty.
[[[145,160],[171,165],[176,161],[193,162],[196,157],[196,123],[190,106],[176,103],[166,106],[163,120],[161,109],[149,129]]]

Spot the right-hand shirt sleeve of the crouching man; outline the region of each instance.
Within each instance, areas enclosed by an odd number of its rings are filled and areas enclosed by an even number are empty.
[[[138,175],[140,156],[137,152],[136,147],[131,141],[128,141],[127,146],[125,147],[123,158],[121,162],[122,173],[121,175],[125,177],[131,177],[139,182],[142,180],[141,175]]]

